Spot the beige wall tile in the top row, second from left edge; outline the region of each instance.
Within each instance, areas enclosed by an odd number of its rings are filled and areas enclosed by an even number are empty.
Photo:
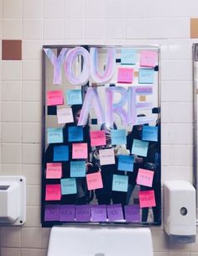
[[[43,0],[23,1],[23,18],[42,18]]]

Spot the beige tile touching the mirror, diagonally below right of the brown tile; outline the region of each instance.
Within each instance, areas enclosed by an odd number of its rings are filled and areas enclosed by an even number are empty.
[[[41,61],[24,60],[23,61],[23,80],[41,81]]]

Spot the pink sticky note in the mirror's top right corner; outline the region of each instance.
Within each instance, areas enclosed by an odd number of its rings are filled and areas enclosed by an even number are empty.
[[[140,66],[154,67],[157,59],[158,54],[155,51],[143,50],[140,56]]]

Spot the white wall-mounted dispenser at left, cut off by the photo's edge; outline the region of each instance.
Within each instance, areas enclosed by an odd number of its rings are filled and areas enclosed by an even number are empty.
[[[22,225],[25,222],[25,185],[23,176],[0,176],[0,225]]]

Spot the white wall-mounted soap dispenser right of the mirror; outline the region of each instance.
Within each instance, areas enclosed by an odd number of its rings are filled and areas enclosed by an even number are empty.
[[[185,180],[164,182],[164,228],[171,241],[194,243],[195,188]]]

